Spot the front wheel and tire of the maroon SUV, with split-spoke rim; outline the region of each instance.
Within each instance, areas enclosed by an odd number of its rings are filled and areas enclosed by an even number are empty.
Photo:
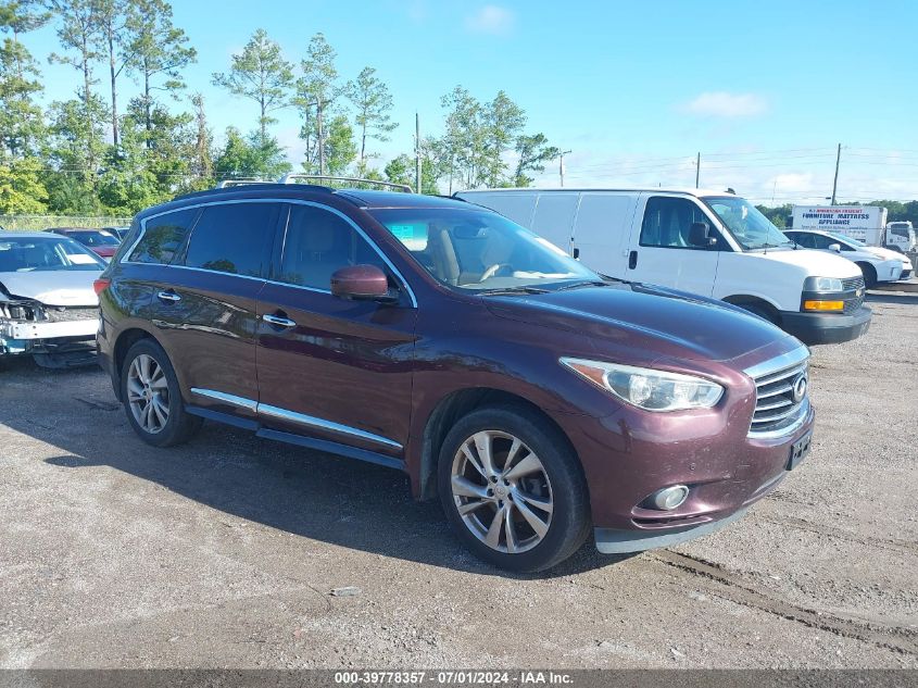
[[[519,441],[516,451],[514,440]],[[481,452],[479,446],[490,449]],[[488,454],[490,462],[482,460]],[[551,568],[576,552],[590,534],[580,463],[565,438],[532,411],[513,406],[473,411],[447,435],[437,471],[440,501],[453,530],[494,566],[526,573]]]

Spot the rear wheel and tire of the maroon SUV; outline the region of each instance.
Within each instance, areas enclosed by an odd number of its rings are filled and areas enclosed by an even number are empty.
[[[148,445],[181,445],[201,427],[202,420],[185,410],[172,362],[152,339],[141,339],[128,349],[121,372],[121,392],[128,423]]]

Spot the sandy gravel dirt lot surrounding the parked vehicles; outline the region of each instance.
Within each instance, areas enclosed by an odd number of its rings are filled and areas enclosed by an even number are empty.
[[[872,300],[815,351],[815,447],[778,491],[548,577],[479,564],[399,473],[214,424],[154,450],[101,372],[16,363],[0,666],[918,667],[918,297]]]

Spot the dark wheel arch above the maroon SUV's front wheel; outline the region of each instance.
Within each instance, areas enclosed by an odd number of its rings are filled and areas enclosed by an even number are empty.
[[[450,429],[463,416],[483,408],[520,409],[539,415],[544,418],[548,427],[557,436],[558,441],[565,442],[571,454],[577,459],[578,464],[580,463],[574,443],[561,425],[532,401],[517,393],[493,387],[456,389],[437,402],[424,425],[420,448],[417,452],[419,455],[416,481],[414,481],[415,495],[418,499],[430,500],[437,497],[437,462],[440,458],[440,448],[443,446]]]

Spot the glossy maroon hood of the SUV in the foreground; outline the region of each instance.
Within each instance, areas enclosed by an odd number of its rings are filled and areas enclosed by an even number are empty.
[[[788,349],[801,346],[737,307],[650,285],[483,298],[499,317],[568,329],[651,356],[729,361],[781,340],[787,340]]]

